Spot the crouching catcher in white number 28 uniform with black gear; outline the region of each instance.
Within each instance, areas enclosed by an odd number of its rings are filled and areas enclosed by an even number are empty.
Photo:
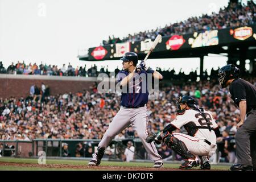
[[[191,169],[199,166],[200,169],[210,169],[208,156],[216,151],[216,136],[220,136],[220,130],[215,120],[208,111],[204,111],[196,105],[190,96],[180,97],[177,101],[177,117],[167,125],[159,134],[150,134],[146,142],[155,141],[157,144],[164,142],[183,159],[180,169]],[[172,133],[182,126],[188,135]]]

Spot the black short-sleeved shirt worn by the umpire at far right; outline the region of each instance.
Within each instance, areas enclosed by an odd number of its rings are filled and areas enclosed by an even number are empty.
[[[240,101],[246,101],[246,114],[256,108],[256,89],[248,81],[237,78],[230,84],[229,92],[238,107]]]

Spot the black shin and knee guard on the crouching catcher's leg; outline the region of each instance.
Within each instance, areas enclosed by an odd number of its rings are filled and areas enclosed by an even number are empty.
[[[184,159],[196,159],[196,156],[191,154],[188,150],[187,146],[181,140],[175,137],[167,137],[164,142],[167,144],[168,147],[172,148],[177,154],[179,154]]]

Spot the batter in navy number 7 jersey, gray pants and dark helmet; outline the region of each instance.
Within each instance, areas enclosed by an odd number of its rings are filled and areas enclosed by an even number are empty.
[[[142,61],[138,63],[138,55],[134,52],[126,52],[121,59],[123,61],[123,70],[118,73],[118,82],[122,88],[121,109],[110,123],[108,130],[104,134],[101,142],[98,144],[96,154],[93,154],[89,166],[98,166],[101,163],[105,148],[108,147],[115,135],[121,133],[129,125],[133,124],[137,130],[139,138],[141,138],[144,148],[154,160],[155,168],[163,167],[163,161],[158,154],[154,142],[147,143],[147,101],[148,91],[143,88],[147,86],[147,74],[152,74],[152,77],[162,79],[163,76],[159,72],[152,69],[145,69],[145,64]],[[139,71],[139,72],[138,72]],[[144,77],[143,77],[144,74]],[[139,81],[135,81],[135,76],[139,76]],[[145,79],[146,78],[146,79]],[[146,85],[143,85],[146,84]],[[146,87],[147,88],[147,87]]]

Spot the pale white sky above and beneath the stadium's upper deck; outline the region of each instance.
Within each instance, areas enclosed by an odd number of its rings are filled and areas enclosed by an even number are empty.
[[[73,67],[90,67],[77,58],[81,49],[100,46],[109,35],[123,38],[134,32],[164,27],[191,16],[200,16],[228,5],[228,0],[0,0],[0,61],[25,61]],[[204,69],[226,64],[225,56],[205,56]],[[160,63],[160,64],[159,64]],[[121,68],[121,61],[97,61],[109,70]],[[155,69],[175,68],[189,73],[200,59],[147,60]],[[199,71],[199,69],[198,69]]]

